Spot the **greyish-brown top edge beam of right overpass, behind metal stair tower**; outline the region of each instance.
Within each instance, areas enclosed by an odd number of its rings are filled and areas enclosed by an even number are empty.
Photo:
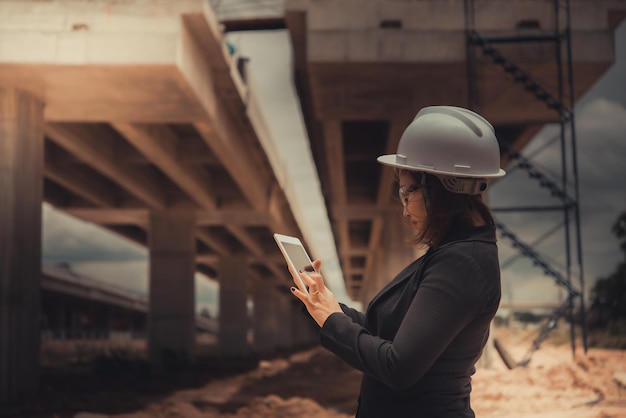
[[[572,1],[571,28],[575,58],[580,61],[611,61],[607,22],[623,3]],[[342,2],[287,1],[286,14],[306,11],[307,56],[314,62],[442,62],[465,55],[464,0],[392,2],[347,0]],[[551,1],[475,1],[475,27],[500,35],[519,34],[521,22],[533,22],[537,31],[554,27],[555,9]],[[393,26],[386,22],[394,22]],[[562,24],[563,22],[561,22]],[[595,48],[594,48],[595,46]],[[532,57],[529,51],[525,58]],[[520,57],[511,57],[518,59]]]

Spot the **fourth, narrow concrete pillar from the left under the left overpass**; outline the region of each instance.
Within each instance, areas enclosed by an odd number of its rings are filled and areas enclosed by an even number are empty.
[[[274,286],[257,280],[254,284],[254,351],[259,354],[271,353],[276,350],[278,337],[279,298]]]

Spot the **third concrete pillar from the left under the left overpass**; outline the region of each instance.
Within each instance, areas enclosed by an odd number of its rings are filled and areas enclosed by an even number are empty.
[[[247,307],[248,266],[245,257],[222,257],[218,278],[220,282],[219,353],[222,357],[250,355],[248,330],[250,318]]]

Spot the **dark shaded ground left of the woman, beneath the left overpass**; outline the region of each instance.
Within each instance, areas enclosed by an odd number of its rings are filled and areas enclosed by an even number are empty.
[[[279,353],[272,358],[204,358],[193,369],[154,375],[144,361],[102,357],[90,364],[42,368],[36,399],[0,409],[1,417],[72,418],[89,411],[132,414],[176,393],[192,391],[200,411],[235,414],[255,398],[313,399],[320,406],[354,414],[361,374],[325,350]],[[225,386],[232,386],[230,389]],[[206,386],[206,388],[205,388]],[[228,396],[211,400],[214,388]]]

